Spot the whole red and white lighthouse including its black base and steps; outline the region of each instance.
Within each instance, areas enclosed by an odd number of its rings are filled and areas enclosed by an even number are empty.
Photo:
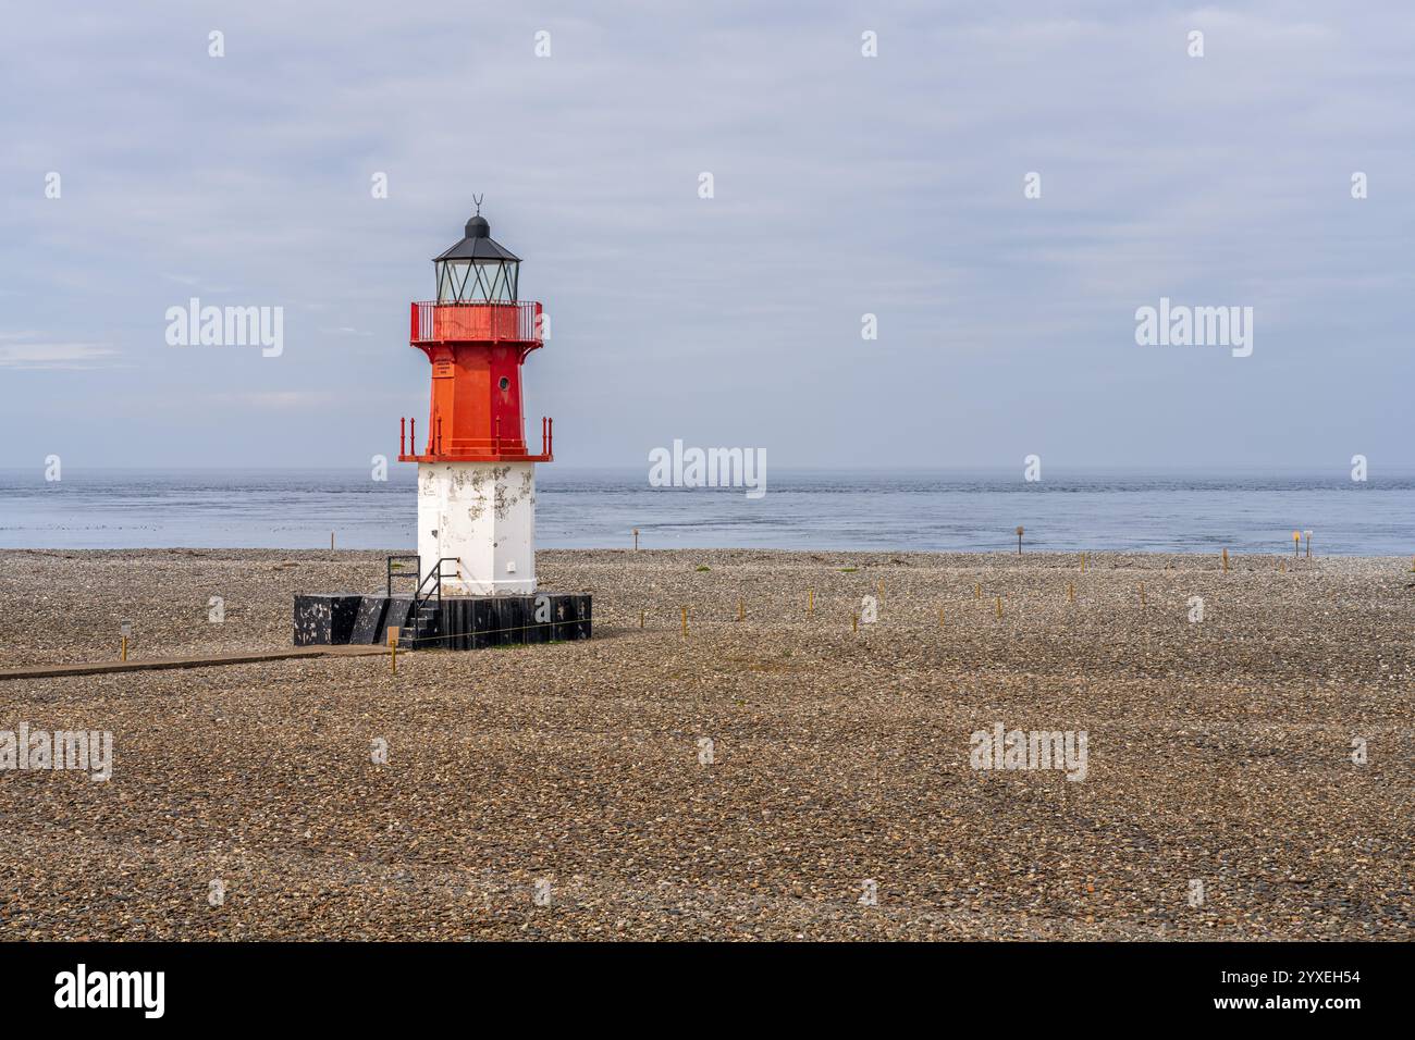
[[[535,580],[535,464],[526,444],[521,368],[542,345],[539,303],[521,300],[521,258],[477,214],[433,258],[437,299],[412,304],[409,342],[427,355],[427,417],[402,420],[398,460],[417,463],[417,553],[389,556],[382,589],[296,593],[294,644],[478,649],[589,640],[589,589],[552,593]],[[416,560],[416,572],[405,570]],[[413,589],[395,580],[413,579]],[[396,659],[396,657],[395,657]]]

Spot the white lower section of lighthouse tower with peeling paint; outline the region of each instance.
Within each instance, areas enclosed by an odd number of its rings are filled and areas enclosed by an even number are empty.
[[[535,463],[419,463],[417,555],[444,594],[535,591]]]

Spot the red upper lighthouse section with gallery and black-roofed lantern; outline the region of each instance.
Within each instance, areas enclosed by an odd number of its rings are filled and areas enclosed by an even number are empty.
[[[516,299],[521,258],[491,238],[481,216],[433,263],[437,299],[412,304],[409,342],[432,362],[432,406],[417,451],[417,422],[405,420],[399,461],[548,463],[552,420],[541,420],[541,454],[526,447],[521,365],[542,345],[541,304]]]

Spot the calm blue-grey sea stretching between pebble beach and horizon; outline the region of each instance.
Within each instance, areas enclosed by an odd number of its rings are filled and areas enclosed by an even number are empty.
[[[0,548],[412,550],[412,467],[0,470]],[[541,548],[1415,555],[1415,471],[782,470],[766,494],[649,487],[645,468],[539,467]]]

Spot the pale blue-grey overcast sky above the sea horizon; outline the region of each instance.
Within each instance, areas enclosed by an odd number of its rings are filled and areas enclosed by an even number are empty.
[[[0,466],[396,453],[483,192],[558,466],[1415,463],[1415,6],[659,7],[10,6]],[[283,354],[168,345],[192,296]],[[1162,296],[1252,354],[1138,345]]]

